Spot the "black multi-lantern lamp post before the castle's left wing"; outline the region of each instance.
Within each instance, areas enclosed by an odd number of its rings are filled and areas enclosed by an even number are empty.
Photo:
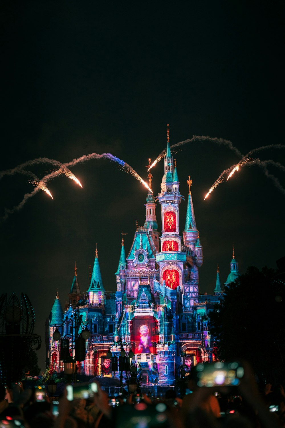
[[[90,331],[88,330],[87,326],[82,321],[82,315],[78,316],[77,312],[74,312],[74,318],[72,321],[71,334],[65,334],[65,336],[62,338],[61,333],[58,329],[60,326],[64,326],[67,324],[70,324],[70,318],[66,317],[65,321],[62,324],[59,324],[58,327],[56,327],[56,330],[53,332],[53,340],[60,340],[60,356],[62,357],[62,361],[64,362],[64,371],[65,374],[68,376],[69,380],[72,379],[73,375],[73,381],[76,383],[76,372],[77,372],[77,361],[83,361],[85,360],[85,342],[90,337]],[[81,333],[78,334],[79,328],[82,328]],[[84,327],[84,328],[83,328]],[[74,334],[73,334],[74,333]],[[74,360],[73,357],[70,355],[70,346],[69,346],[69,339],[68,336],[71,336],[71,350],[73,354],[74,349]],[[74,343],[74,348],[73,348]]]

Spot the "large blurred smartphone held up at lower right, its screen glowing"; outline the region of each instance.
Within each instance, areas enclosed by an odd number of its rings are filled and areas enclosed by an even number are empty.
[[[238,386],[244,375],[243,366],[232,363],[199,363],[195,366],[197,386]]]

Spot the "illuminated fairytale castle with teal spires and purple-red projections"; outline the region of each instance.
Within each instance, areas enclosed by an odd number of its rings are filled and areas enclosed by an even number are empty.
[[[151,189],[150,173],[148,178]],[[47,365],[52,364],[57,372],[63,371],[63,353],[67,352],[68,356],[75,357],[78,372],[90,376],[112,376],[112,373],[118,376],[118,367],[114,364],[112,368],[113,359],[107,356],[107,351],[119,356],[123,349],[127,355],[130,352],[130,359],[139,362],[144,384],[172,385],[179,367],[213,360],[208,313],[218,303],[223,289],[217,269],[214,294],[199,294],[203,247],[194,216],[191,183],[189,176],[182,241],[179,235],[182,195],[167,127],[161,193],[155,199],[152,191],[148,191],[146,220],[144,226],[137,226],[127,257],[122,233],[115,273],[117,291],[107,292],[103,286],[96,248],[87,293],[80,291],[76,267],[68,295],[70,304],[65,312],[56,293],[46,323]],[[156,202],[161,205],[161,236],[156,222]],[[233,253],[225,284],[237,276],[238,263]],[[83,343],[83,355],[78,357],[75,338],[82,339],[81,333],[86,327],[91,334]],[[62,340],[53,338],[56,328]]]

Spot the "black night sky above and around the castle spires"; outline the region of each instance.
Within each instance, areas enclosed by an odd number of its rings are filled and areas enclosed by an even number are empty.
[[[194,5],[194,3],[197,3]],[[0,171],[39,157],[62,163],[110,152],[147,179],[147,158],[195,135],[231,140],[241,153],[284,143],[284,3],[3,2]],[[285,149],[259,152],[285,165]],[[239,269],[276,267],[285,256],[285,194],[257,166],[244,167],[204,196],[240,158],[212,142],[185,144],[174,155],[180,192],[188,175],[204,264],[200,292],[212,293],[217,264],[229,273],[232,245]],[[152,169],[157,195],[163,161]],[[50,172],[29,166],[39,178]],[[285,173],[270,166],[285,187]],[[62,306],[76,261],[81,291],[97,243],[103,285],[115,291],[121,231],[126,253],[145,220],[146,188],[109,160],[72,168],[1,221],[1,292],[28,294],[35,307],[44,369],[44,322],[56,289]],[[27,175],[0,182],[0,216],[33,186]],[[180,235],[186,201],[180,205]],[[160,206],[157,219],[161,227]],[[254,299],[249,290],[249,298]]]

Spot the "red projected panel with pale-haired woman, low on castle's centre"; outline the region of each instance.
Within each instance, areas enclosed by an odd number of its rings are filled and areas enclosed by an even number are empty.
[[[159,342],[156,318],[150,316],[133,318],[131,342],[135,343],[135,354],[156,354],[156,343]]]

